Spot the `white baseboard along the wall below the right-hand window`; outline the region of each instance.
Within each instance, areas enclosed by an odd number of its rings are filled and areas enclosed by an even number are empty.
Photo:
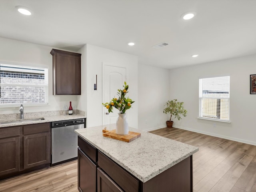
[[[249,141],[249,140],[244,140],[244,139],[240,139],[240,138],[229,137],[229,136],[226,136],[226,135],[219,135],[219,134],[215,134],[215,133],[211,133],[211,132],[206,132],[206,131],[199,131],[199,130],[195,130],[195,129],[191,129],[191,128],[186,128],[186,127],[182,127],[182,126],[175,126],[175,128],[179,128],[179,129],[183,129],[183,130],[188,130],[188,131],[192,131],[192,132],[196,132],[196,133],[201,133],[201,134],[205,134],[205,135],[210,135],[210,136],[214,136],[214,137],[219,137],[219,138],[223,138],[223,139],[228,139],[228,140],[237,141],[237,142],[246,143],[246,144],[250,144],[250,145],[255,145],[256,146],[256,142],[254,142],[254,141]]]

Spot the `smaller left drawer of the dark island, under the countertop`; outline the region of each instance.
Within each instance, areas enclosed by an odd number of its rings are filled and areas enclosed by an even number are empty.
[[[90,157],[94,162],[97,162],[97,149],[94,146],[80,136],[78,136],[78,146],[86,155],[88,155],[88,157]]]

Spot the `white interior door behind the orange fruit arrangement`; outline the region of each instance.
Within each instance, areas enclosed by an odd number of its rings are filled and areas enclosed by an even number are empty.
[[[126,81],[126,68],[102,63],[102,103],[118,98],[117,90],[122,89]],[[113,108],[113,113],[103,106],[102,124],[116,123],[119,111]]]

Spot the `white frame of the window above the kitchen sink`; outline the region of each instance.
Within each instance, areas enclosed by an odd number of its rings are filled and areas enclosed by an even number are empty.
[[[26,87],[26,86],[32,86],[32,87],[44,87],[45,88],[45,101],[43,103],[28,103],[28,102],[24,102],[24,103],[14,103],[14,104],[0,104],[0,108],[9,108],[9,107],[17,107],[20,106],[20,104],[22,104],[23,106],[44,106],[44,105],[48,105],[48,100],[49,100],[49,68],[46,65],[40,65],[40,64],[30,64],[30,63],[23,63],[23,62],[10,62],[10,61],[1,61],[0,60],[0,64],[3,65],[12,65],[12,66],[18,66],[18,67],[25,67],[25,68],[44,68],[45,70],[47,70],[47,75],[45,73],[45,78],[46,78],[46,82],[47,84],[8,84],[8,83],[4,83],[4,86],[20,86],[20,87]],[[0,87],[1,87],[1,82],[0,82]]]

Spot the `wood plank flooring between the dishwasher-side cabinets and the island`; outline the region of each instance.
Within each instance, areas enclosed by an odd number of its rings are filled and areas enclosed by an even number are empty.
[[[0,192],[78,192],[77,160],[0,181]]]

